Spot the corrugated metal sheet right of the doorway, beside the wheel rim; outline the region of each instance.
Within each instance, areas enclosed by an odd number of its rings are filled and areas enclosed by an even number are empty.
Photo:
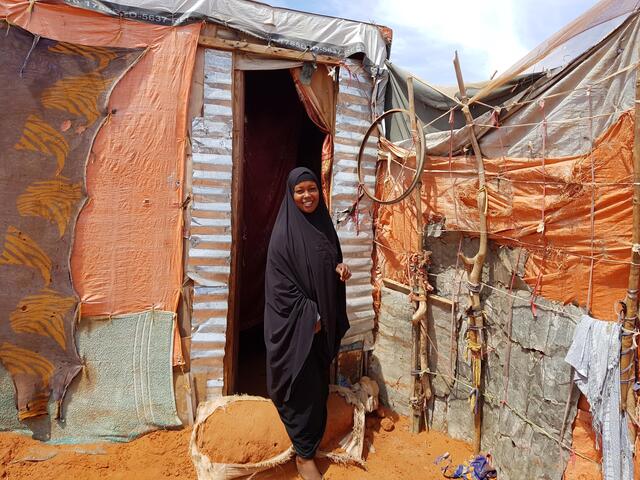
[[[363,71],[362,64],[347,61],[340,69],[340,88],[336,112],[336,138],[334,147],[333,187],[331,207],[334,218],[337,212],[350,208],[358,194],[357,155],[360,142],[371,123],[371,77]],[[367,143],[365,155],[371,169],[366,181],[375,182],[373,165],[378,154],[377,137]],[[337,227],[345,258],[353,272],[347,284],[347,311],[351,329],[343,343],[371,338],[374,326],[373,287],[371,269],[373,262],[373,223],[371,201],[364,197],[359,202],[358,228],[353,218]]]

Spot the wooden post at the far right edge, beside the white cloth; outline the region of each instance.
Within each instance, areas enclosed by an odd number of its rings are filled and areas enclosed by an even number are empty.
[[[636,352],[633,349],[633,336],[630,334],[636,328],[638,319],[638,281],[640,280],[640,70],[636,70],[636,111],[633,139],[633,229],[631,233],[631,268],[629,270],[629,284],[627,296],[624,300],[626,311],[620,351],[620,407],[635,415],[636,398],[633,392],[635,365],[633,359]],[[635,441],[635,427],[632,428],[632,441]]]

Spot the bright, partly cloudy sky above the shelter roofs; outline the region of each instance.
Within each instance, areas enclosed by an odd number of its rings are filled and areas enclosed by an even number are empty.
[[[597,0],[263,0],[385,25],[391,61],[436,85],[455,83],[455,50],[465,82],[506,70]],[[468,25],[468,27],[467,27]]]

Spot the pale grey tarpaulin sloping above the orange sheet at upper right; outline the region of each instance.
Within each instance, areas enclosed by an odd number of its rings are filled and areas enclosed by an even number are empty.
[[[639,18],[631,16],[527,95],[532,100],[505,112],[505,128],[481,140],[487,157],[584,155],[592,141],[633,108],[638,62]],[[544,100],[541,103],[540,100]],[[546,135],[540,119],[546,119]],[[521,125],[515,127],[515,125]]]

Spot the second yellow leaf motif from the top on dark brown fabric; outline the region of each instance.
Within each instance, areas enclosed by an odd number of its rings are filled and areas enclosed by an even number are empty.
[[[42,92],[42,105],[83,116],[91,125],[100,116],[98,97],[110,84],[111,80],[104,79],[98,72],[63,78]]]

